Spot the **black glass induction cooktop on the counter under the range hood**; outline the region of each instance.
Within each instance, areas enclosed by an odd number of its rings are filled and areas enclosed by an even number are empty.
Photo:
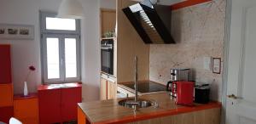
[[[130,87],[131,89],[134,88],[134,83],[127,83],[123,84],[126,87]],[[137,91],[139,93],[150,93],[150,92],[160,92],[160,91],[166,91],[166,86],[157,83],[157,82],[138,82],[137,83]]]

